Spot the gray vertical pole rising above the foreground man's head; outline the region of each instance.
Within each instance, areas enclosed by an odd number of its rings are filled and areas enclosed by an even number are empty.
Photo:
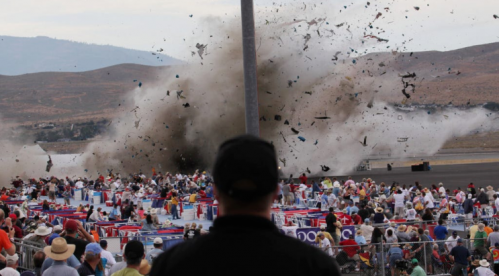
[[[246,133],[260,136],[258,90],[256,75],[255,18],[253,0],[241,0],[243,26],[244,94],[246,105]]]

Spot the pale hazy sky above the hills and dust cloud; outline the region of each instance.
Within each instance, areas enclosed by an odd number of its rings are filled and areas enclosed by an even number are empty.
[[[303,3],[255,0],[255,5],[263,9],[274,2]],[[493,18],[494,14],[499,15],[499,0],[370,0],[369,9],[365,8],[367,1],[315,2],[331,6],[334,12],[328,14],[329,20],[352,25],[359,18],[374,18],[377,7],[383,12],[383,17],[376,21],[376,26],[386,30],[383,37],[390,39],[391,46],[406,41],[404,46],[408,51],[449,50],[499,41],[499,19]],[[165,49],[166,54],[182,58],[190,53],[183,39],[192,36],[196,28],[202,28],[200,18],[234,18],[240,12],[239,3],[239,0],[0,0],[0,35],[48,36],[147,51],[156,46]],[[415,6],[420,10],[416,11]],[[385,12],[384,7],[389,7],[390,12]]]

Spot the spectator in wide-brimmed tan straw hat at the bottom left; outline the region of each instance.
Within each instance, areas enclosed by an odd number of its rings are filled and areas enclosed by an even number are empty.
[[[42,276],[79,276],[75,268],[66,265],[66,260],[73,255],[74,244],[67,244],[63,238],[55,238],[51,246],[46,246],[43,252],[54,263],[43,272]]]

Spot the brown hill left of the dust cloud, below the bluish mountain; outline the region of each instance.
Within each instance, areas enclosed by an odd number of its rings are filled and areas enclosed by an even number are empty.
[[[121,64],[81,73],[0,75],[0,115],[6,124],[112,119],[138,82],[153,85],[167,67]],[[134,82],[134,80],[138,80]]]

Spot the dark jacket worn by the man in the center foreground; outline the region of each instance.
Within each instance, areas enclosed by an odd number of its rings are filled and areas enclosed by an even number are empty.
[[[324,252],[285,236],[268,219],[242,215],[220,217],[210,234],[164,252],[150,275],[205,275],[207,268],[210,275],[341,275]]]

